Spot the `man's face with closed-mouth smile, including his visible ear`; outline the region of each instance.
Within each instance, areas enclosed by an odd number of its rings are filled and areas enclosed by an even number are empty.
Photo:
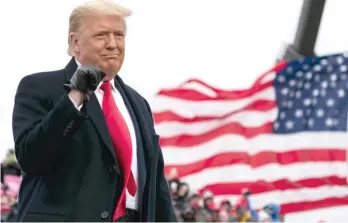
[[[97,65],[112,79],[121,69],[125,54],[125,24],[119,16],[93,15],[82,29],[70,36],[76,59],[84,65]]]

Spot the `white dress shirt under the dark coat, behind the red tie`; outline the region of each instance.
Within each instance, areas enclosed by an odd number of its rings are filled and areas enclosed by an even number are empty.
[[[78,66],[80,66],[80,63],[78,61],[76,61],[76,63],[78,64]],[[122,114],[122,116],[123,116],[123,118],[128,126],[128,130],[129,130],[130,137],[132,140],[132,166],[131,166],[131,170],[133,172],[135,182],[138,185],[137,141],[136,141],[136,135],[135,135],[133,121],[132,121],[132,118],[128,112],[128,109],[123,101],[123,98],[122,98],[120,92],[115,87],[114,81],[112,80],[110,82],[111,82],[111,86],[112,86],[112,96],[114,97],[116,106],[120,110],[120,112],[121,112],[121,114]],[[102,101],[103,101],[103,95],[104,95],[103,90],[100,89],[101,85],[102,85],[102,83],[100,83],[98,88],[94,91],[94,94],[98,99],[100,107],[102,107]],[[75,102],[73,100],[71,100],[71,101],[73,102],[73,104],[75,105],[75,107],[77,109],[80,110],[82,108],[83,105],[80,105],[79,107],[77,107]],[[126,207],[133,209],[133,210],[138,210],[138,192],[136,192],[135,196],[133,197],[132,195],[129,194],[128,190],[126,190]]]

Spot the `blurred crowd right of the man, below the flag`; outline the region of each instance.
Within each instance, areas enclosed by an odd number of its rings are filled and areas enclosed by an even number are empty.
[[[173,206],[180,222],[282,222],[280,206],[266,203],[256,210],[250,203],[251,191],[241,191],[240,199],[234,204],[229,200],[215,202],[210,191],[194,193],[187,183],[180,181],[176,170],[172,170],[167,180],[170,186]]]

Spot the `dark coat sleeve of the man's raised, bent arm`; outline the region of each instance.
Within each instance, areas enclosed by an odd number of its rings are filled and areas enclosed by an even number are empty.
[[[40,77],[40,78],[39,78]],[[27,174],[49,172],[68,154],[65,146],[85,119],[65,93],[53,104],[42,76],[24,77],[15,95],[12,131],[18,163]]]

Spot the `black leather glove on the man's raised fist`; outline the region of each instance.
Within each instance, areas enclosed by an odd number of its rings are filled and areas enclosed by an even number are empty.
[[[86,96],[86,100],[97,89],[100,81],[105,77],[105,73],[96,66],[82,65],[70,79],[69,84],[64,84],[66,89],[75,89]]]

